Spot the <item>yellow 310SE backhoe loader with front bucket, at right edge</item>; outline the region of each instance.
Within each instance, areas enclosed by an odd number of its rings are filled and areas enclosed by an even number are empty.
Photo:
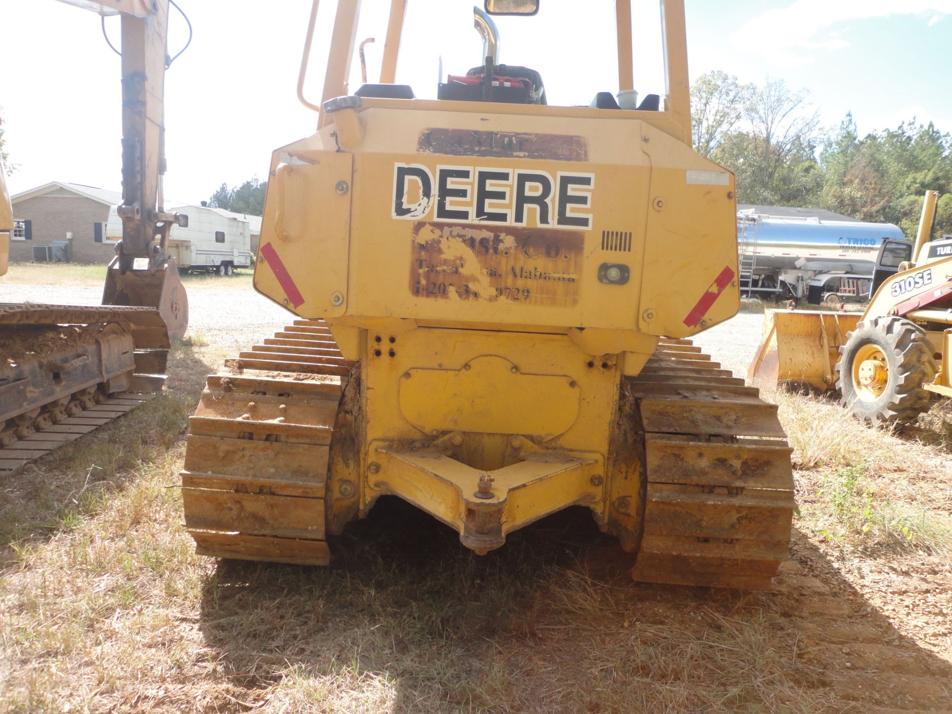
[[[926,192],[915,242],[883,242],[862,313],[768,311],[750,382],[839,389],[874,426],[915,422],[933,394],[952,397],[952,236],[930,240],[938,199]]]

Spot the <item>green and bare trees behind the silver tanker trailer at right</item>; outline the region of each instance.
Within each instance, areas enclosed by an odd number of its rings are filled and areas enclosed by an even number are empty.
[[[824,128],[805,89],[741,84],[723,71],[691,87],[694,147],[737,176],[737,202],[826,208],[912,236],[926,190],[935,235],[952,233],[952,135],[915,118],[860,136],[852,114]]]

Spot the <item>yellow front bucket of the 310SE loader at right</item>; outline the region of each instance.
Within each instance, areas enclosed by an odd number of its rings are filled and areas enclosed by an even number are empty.
[[[840,347],[863,313],[767,310],[747,380],[756,387],[836,388]]]

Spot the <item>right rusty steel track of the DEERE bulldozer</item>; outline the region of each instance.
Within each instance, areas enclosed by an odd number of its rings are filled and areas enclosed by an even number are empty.
[[[635,580],[769,589],[796,506],[776,405],[688,340],[663,340],[627,384],[647,466]]]

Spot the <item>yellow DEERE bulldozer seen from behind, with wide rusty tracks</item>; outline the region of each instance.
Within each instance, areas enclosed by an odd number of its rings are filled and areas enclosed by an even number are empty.
[[[380,81],[351,92],[361,3],[338,0],[312,101],[313,2],[298,96],[318,129],[271,156],[254,272],[294,319],[190,419],[197,552],[327,565],[328,536],[396,496],[484,554],[583,506],[636,580],[769,588],[791,449],[777,407],[689,339],[740,290],[734,176],[691,146],[683,0],[660,0],[664,95],[641,102],[632,4],[607,0],[617,76],[581,75],[588,106],[501,63],[495,18],[528,36],[595,3],[486,0],[482,55],[422,99],[395,81],[413,2],[391,0]]]

